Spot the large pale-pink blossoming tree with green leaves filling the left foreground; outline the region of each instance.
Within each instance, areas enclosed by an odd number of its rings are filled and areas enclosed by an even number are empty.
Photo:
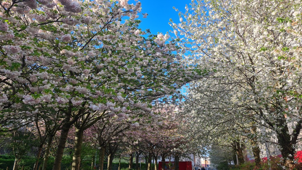
[[[150,111],[152,101],[176,100],[176,89],[206,73],[179,63],[169,35],[141,36],[140,2],[13,0],[0,6],[1,112],[15,116],[24,106],[29,114],[60,111],[54,170],[73,124],[88,128],[93,121],[83,120],[102,118],[106,110],[119,120],[129,111]]]

